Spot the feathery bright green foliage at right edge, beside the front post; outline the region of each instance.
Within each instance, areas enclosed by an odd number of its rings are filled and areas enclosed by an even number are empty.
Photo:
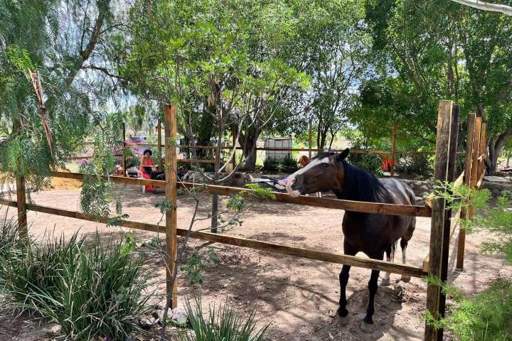
[[[452,210],[466,211],[469,205],[478,212],[474,221],[461,222],[469,232],[481,231],[489,235],[482,244],[482,251],[503,254],[512,263],[512,194],[503,193],[495,206],[489,204],[489,190],[476,190],[453,183],[434,186],[434,195],[447,200]],[[512,281],[500,279],[491,284],[487,291],[474,298],[465,298],[451,284],[442,283],[439,278],[427,278],[427,282],[441,286],[447,295],[457,302],[447,313],[447,317],[436,320],[427,314],[427,323],[435,328],[451,330],[457,340],[512,340]]]

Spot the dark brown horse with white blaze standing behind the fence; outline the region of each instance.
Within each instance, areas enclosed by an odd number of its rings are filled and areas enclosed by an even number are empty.
[[[311,162],[286,179],[286,189],[290,196],[297,197],[308,193],[332,190],[338,199],[366,202],[384,202],[400,205],[415,205],[412,189],[392,178],[378,179],[346,161],[349,149],[342,153],[319,153]],[[284,182],[283,182],[284,183]],[[363,252],[372,259],[391,261],[400,239],[402,263],[406,263],[407,243],[415,230],[415,217],[398,215],[378,215],[374,213],[346,211],[343,216],[343,252],[355,256]],[[343,265],[339,275],[340,299],[336,313],[341,325],[349,323],[346,309],[346,286],[351,266]],[[373,307],[378,288],[378,270],[372,270],[368,281],[369,301],[366,316],[361,322],[363,332],[373,331]],[[381,285],[389,285],[389,274],[385,274]],[[410,281],[402,275],[402,281]]]

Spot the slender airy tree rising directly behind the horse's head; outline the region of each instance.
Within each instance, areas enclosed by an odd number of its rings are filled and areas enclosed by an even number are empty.
[[[360,1],[294,1],[294,11],[299,23],[297,39],[289,45],[290,59],[311,77],[296,112],[302,112],[304,121],[313,119],[316,143],[323,149],[332,144],[353,109],[370,36]]]

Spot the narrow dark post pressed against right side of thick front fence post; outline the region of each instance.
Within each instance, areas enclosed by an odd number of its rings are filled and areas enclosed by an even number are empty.
[[[449,151],[448,151],[448,171],[447,181],[449,183],[455,180],[455,163],[457,160],[457,141],[459,141],[459,105],[454,104],[452,109],[452,124],[449,134]],[[446,282],[448,279],[448,259],[449,259],[449,235],[451,227],[452,210],[444,212],[444,231],[442,243],[442,259],[441,259],[441,281]],[[446,311],[446,295],[441,292],[439,296],[439,315],[444,318]],[[437,330],[437,341],[442,341],[443,330]]]

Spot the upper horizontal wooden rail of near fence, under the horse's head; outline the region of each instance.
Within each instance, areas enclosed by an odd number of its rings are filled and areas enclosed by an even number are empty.
[[[83,174],[80,173],[65,173],[65,172],[51,172],[50,176],[56,178],[70,178],[76,180],[83,180]],[[125,183],[128,185],[152,185],[154,187],[165,187],[165,181],[161,180],[146,180],[126,178],[122,176],[110,176],[110,180],[114,183]],[[204,190],[208,193],[218,195],[232,195],[242,192],[254,192],[245,188],[227,187],[219,185],[205,185],[194,183],[178,183],[181,187],[197,188]],[[272,192],[275,195],[275,201],[287,202],[289,204],[307,205],[313,207],[332,208],[336,210],[346,210],[353,212],[366,212],[376,213],[380,215],[409,215],[415,217],[432,217],[432,210],[427,206],[413,206],[413,205],[394,205],[384,204],[380,202],[360,202],[351,200],[338,200],[328,199],[325,197],[291,197],[285,193]]]

